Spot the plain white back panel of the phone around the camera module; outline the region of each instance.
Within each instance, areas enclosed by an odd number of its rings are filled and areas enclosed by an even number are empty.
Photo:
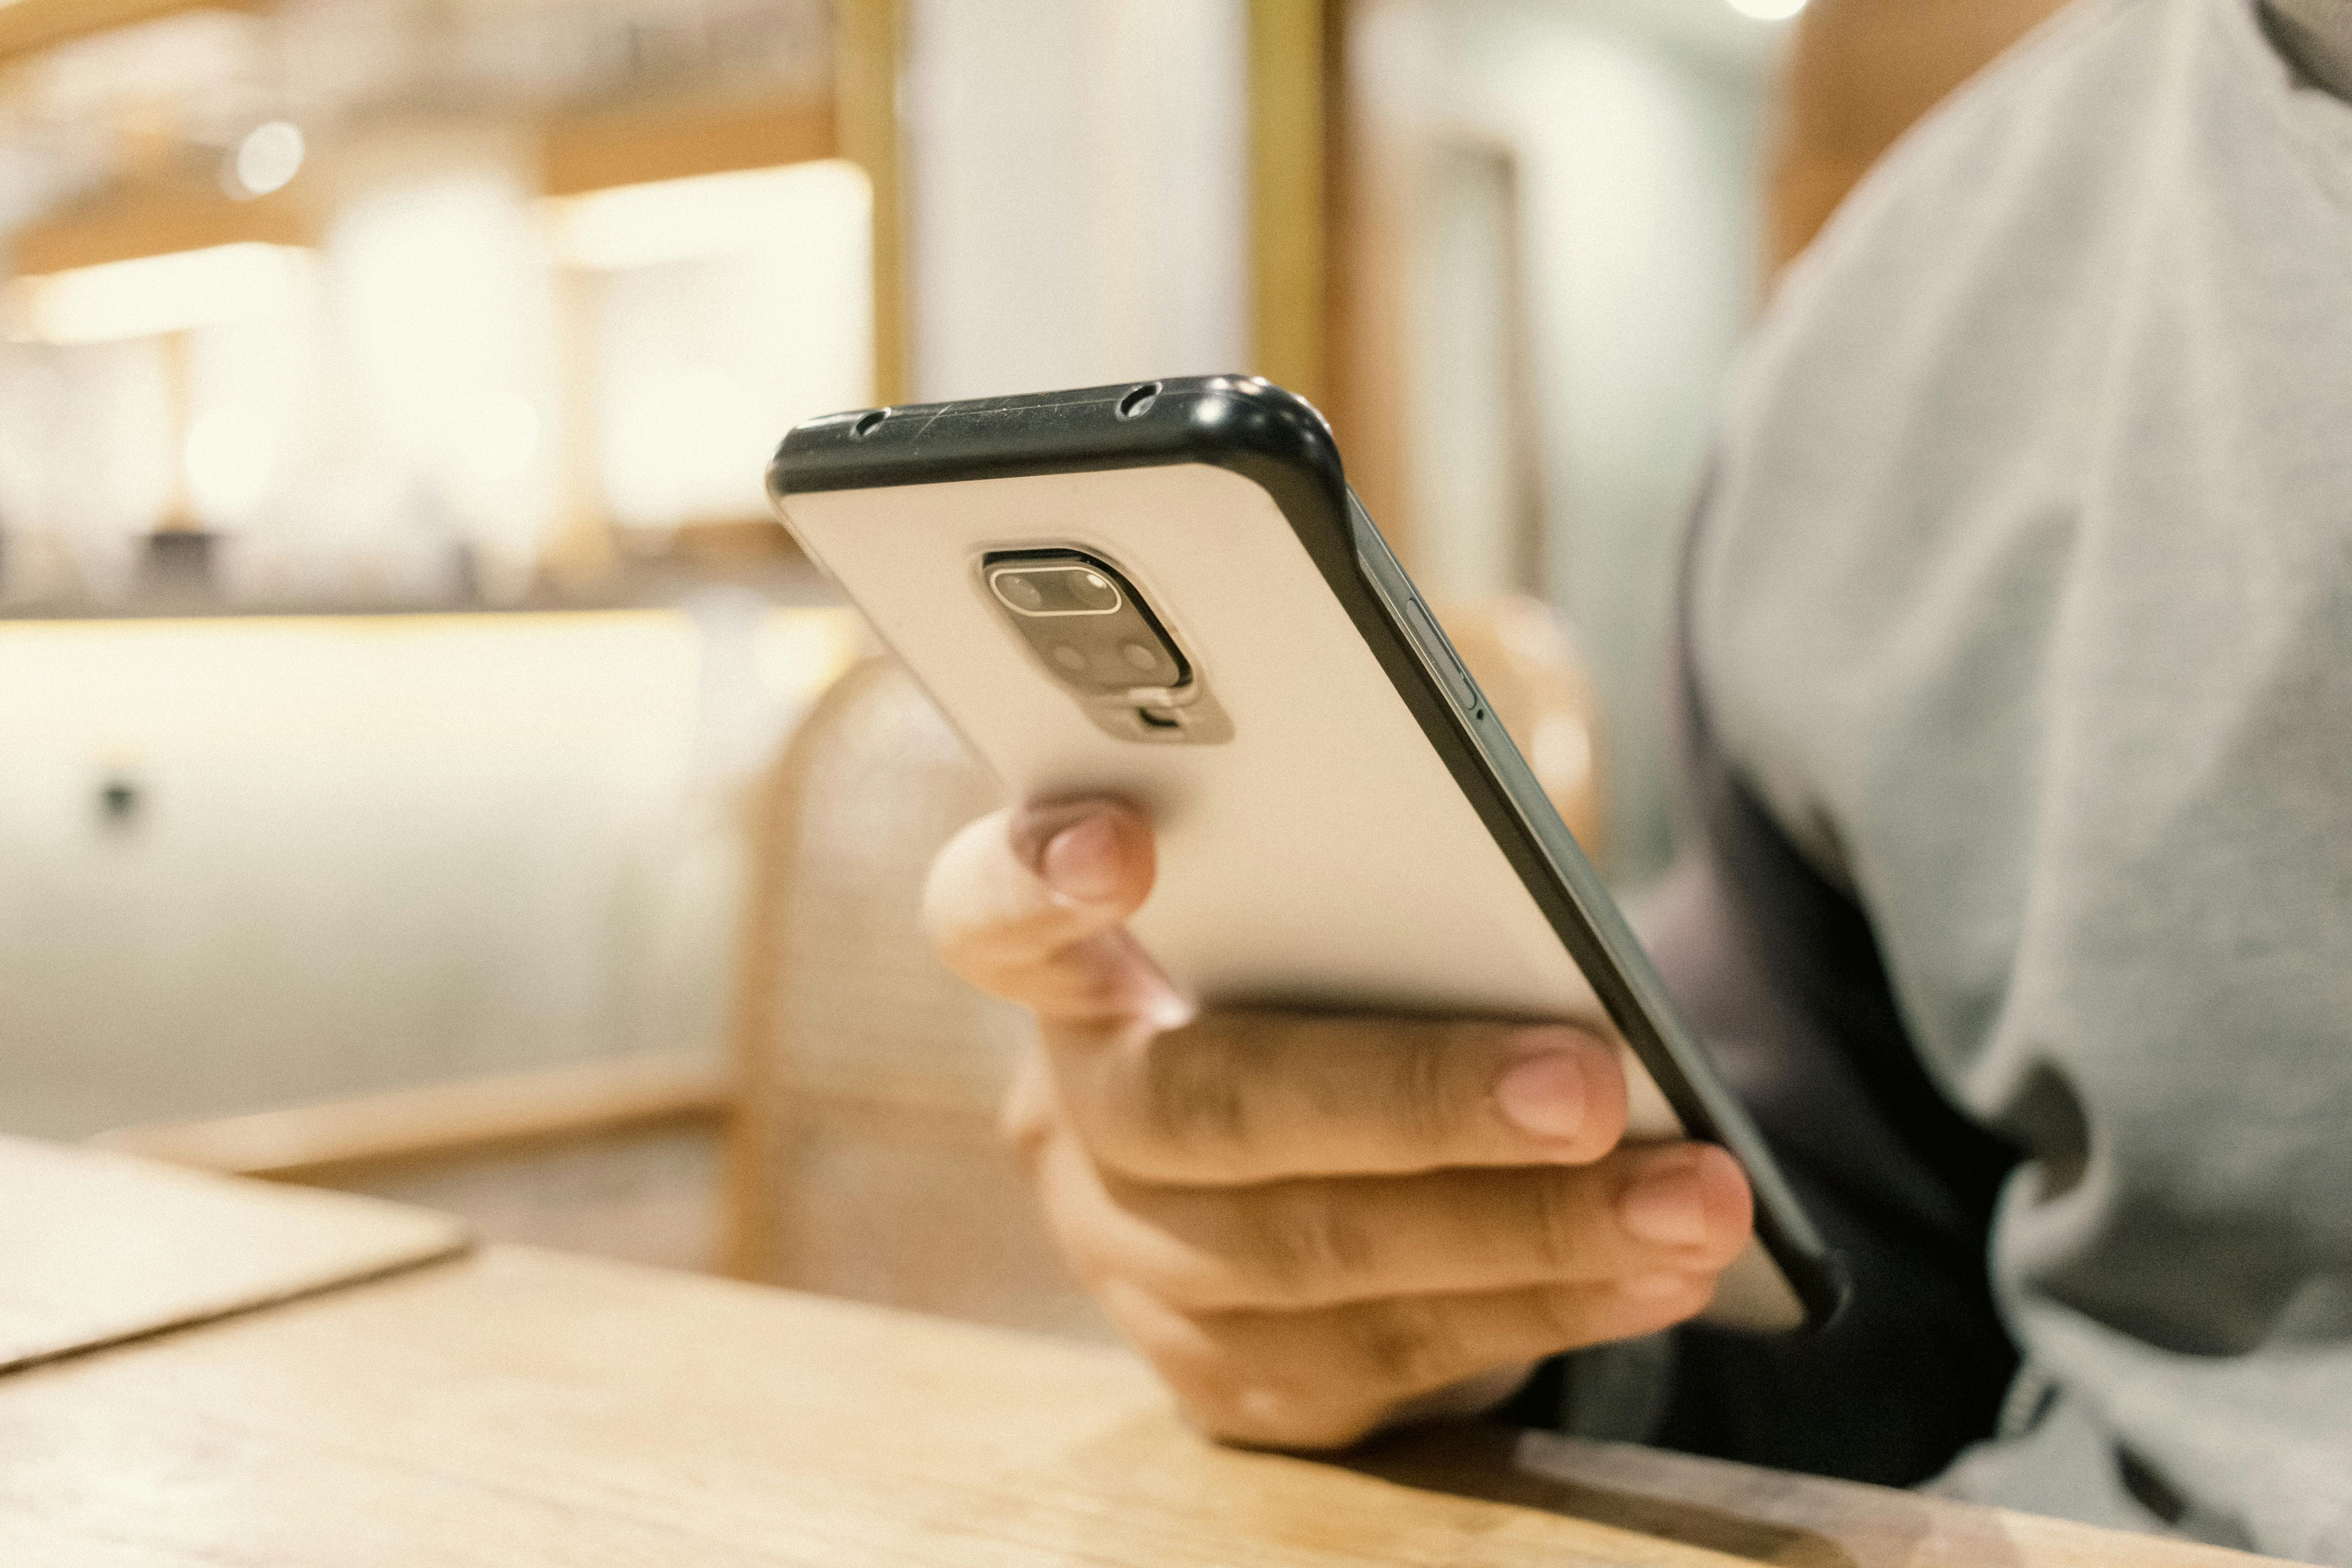
[[[1117,795],[1150,811],[1160,879],[1131,929],[1188,994],[1616,1034],[1258,484],[1178,463],[800,494],[786,512],[1014,799]],[[1030,663],[976,564],[1051,545],[1136,585],[1223,703],[1230,741],[1112,738]],[[1623,1056],[1630,1135],[1679,1135]],[[1804,1314],[1750,1246],[1708,1316]]]

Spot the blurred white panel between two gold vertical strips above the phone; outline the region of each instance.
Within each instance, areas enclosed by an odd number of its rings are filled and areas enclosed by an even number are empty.
[[[1242,369],[1244,0],[913,0],[915,395]]]

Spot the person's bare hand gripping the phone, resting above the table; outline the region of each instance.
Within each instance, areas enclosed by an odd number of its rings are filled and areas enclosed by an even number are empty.
[[[1329,1448],[1510,1396],[1541,1356],[1677,1324],[1748,1244],[1738,1164],[1621,1145],[1616,1046],[1564,1025],[1207,1011],[1124,919],[1152,830],[1000,811],[927,919],[1037,1013],[1007,1133],[1120,1331],[1216,1436]]]

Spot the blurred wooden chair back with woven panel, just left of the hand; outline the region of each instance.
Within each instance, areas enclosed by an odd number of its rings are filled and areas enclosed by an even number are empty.
[[[889,658],[842,675],[769,771],[739,957],[729,1272],[1108,1335],[995,1131],[1033,1025],[922,933],[931,856],[995,806]]]

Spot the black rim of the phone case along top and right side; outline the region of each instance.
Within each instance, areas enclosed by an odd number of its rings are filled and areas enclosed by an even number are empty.
[[[1740,1161],[1755,1227],[1820,1331],[1849,1281],[1764,1135],[1672,999],[1616,900],[1519,748],[1477,691],[1437,618],[1355,501],[1322,414],[1256,376],[1183,376],[1021,397],[833,414],[797,425],[769,463],[776,498],[1011,475],[1209,463],[1275,498],[1404,698],[1454,783],[1656,1079],[1682,1126]]]

